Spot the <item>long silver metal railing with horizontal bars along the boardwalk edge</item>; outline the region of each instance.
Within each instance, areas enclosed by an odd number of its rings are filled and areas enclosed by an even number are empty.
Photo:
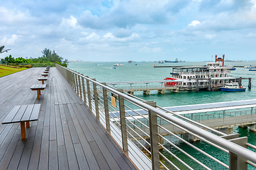
[[[159,108],[154,101],[143,101],[71,69],[56,67],[138,169],[256,168],[256,147],[247,143],[247,137],[226,135]],[[174,128],[184,133],[177,135]],[[213,149],[206,151],[188,142],[186,136]]]

